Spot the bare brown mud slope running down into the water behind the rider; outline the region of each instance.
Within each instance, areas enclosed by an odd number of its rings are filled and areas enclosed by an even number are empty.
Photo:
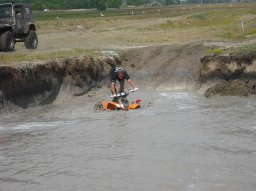
[[[123,62],[133,81],[149,90],[194,90],[201,61],[208,47],[203,42],[134,48]]]

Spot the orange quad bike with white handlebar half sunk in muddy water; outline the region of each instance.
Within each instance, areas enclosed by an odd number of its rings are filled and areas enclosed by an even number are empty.
[[[129,90],[128,93],[125,91],[116,94],[116,101],[107,102],[107,101],[101,101],[103,104],[104,109],[113,109],[113,110],[130,110],[130,109],[136,109],[140,107],[140,101],[136,100],[135,103],[130,103],[127,99],[127,96],[129,93],[134,92],[134,90]],[[113,96],[110,96],[113,97]]]

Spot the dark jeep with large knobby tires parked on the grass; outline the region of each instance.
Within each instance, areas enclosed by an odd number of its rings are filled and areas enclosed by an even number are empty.
[[[13,51],[16,42],[24,42],[28,49],[36,49],[37,33],[28,4],[0,4],[0,50]]]

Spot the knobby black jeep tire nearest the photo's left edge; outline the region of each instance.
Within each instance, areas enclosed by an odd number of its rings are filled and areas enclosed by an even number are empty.
[[[5,31],[0,36],[0,49],[2,51],[13,51],[15,45],[15,40],[13,33],[10,31]]]

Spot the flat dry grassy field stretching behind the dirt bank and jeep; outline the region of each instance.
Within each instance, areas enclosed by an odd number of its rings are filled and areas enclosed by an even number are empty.
[[[209,42],[209,52],[214,53],[256,50],[256,2],[60,10],[34,12],[34,18],[38,48],[26,50],[19,42],[13,52],[0,53],[0,64],[198,41]]]

